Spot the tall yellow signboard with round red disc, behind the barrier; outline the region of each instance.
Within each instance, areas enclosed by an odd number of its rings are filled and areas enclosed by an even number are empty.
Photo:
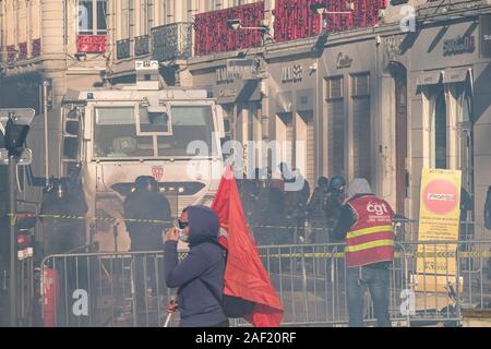
[[[459,170],[423,169],[419,213],[419,241],[457,241],[460,217]],[[457,276],[456,244],[418,245],[417,291],[446,292]],[[454,255],[454,256],[448,256]],[[453,280],[448,282],[448,280]]]

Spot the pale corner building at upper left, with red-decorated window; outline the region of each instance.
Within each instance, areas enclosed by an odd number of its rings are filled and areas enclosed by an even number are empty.
[[[100,84],[106,9],[106,0],[0,1],[2,107],[29,106],[39,113],[43,81],[50,83],[50,107],[67,88]]]

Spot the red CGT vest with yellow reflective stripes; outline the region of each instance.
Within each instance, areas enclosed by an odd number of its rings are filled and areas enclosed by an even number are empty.
[[[375,195],[357,197],[348,205],[357,221],[346,237],[345,260],[348,267],[363,266],[394,260],[394,212]]]

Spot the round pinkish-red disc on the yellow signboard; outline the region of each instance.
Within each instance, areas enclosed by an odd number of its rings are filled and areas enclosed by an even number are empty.
[[[433,214],[447,215],[458,205],[458,191],[448,180],[438,179],[424,189],[424,206]]]

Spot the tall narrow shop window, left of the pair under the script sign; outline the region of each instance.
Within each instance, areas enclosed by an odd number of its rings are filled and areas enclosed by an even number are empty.
[[[343,77],[326,82],[328,176],[345,176],[345,99]]]

